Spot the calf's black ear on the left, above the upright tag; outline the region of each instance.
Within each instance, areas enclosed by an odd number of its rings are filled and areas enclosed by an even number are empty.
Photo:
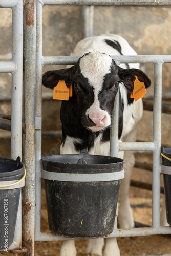
[[[42,75],[42,84],[45,87],[53,89],[55,86],[57,86],[59,80],[65,80],[66,85],[69,88],[72,82],[74,67],[75,66],[69,69],[47,71]]]

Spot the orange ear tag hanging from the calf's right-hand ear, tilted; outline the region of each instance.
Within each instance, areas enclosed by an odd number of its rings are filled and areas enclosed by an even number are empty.
[[[134,81],[134,90],[131,93],[131,98],[134,98],[135,101],[138,99],[142,98],[144,94],[146,93],[146,88],[143,82],[140,82],[135,76],[135,81]]]

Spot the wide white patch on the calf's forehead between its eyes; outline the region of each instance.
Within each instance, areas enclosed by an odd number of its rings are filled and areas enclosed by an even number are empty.
[[[104,76],[111,72],[112,58],[101,52],[90,52],[80,59],[81,74],[88,78],[95,91],[101,91]]]

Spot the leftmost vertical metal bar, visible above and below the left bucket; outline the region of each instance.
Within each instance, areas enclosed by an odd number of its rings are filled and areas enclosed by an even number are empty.
[[[0,2],[3,7],[7,7]],[[1,62],[1,72],[12,73],[11,86],[11,158],[22,157],[22,89],[23,89],[23,1],[11,1],[12,7],[12,61]],[[15,225],[14,240],[9,249],[22,246],[22,204],[21,192]]]

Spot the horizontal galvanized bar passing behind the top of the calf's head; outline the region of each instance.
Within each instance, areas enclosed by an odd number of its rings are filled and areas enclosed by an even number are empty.
[[[42,57],[42,65],[74,65],[81,56]],[[170,63],[171,55],[112,56],[120,63]]]

